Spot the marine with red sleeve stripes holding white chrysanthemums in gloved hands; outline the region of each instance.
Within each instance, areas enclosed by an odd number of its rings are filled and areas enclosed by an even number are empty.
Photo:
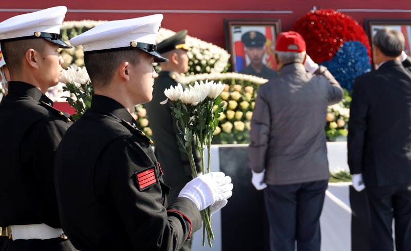
[[[232,194],[230,177],[210,173],[186,184],[169,206],[162,176],[172,174],[163,174],[153,141],[136,128],[131,113],[152,99],[153,63],[167,60],[155,45],[162,18],[112,21],[70,40],[83,45],[95,88],[55,161],[62,227],[78,249],[178,250],[200,228],[199,210],[216,211]]]

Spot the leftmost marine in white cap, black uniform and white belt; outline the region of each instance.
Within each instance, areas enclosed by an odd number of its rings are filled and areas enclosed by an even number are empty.
[[[70,48],[59,34],[66,12],[53,7],[0,23],[10,72],[0,103],[0,226],[12,231],[2,250],[76,250],[61,229],[53,181],[54,152],[71,120],[44,95],[59,81],[60,48]]]

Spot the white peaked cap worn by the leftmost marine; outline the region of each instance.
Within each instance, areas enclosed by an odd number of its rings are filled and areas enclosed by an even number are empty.
[[[71,48],[61,40],[60,26],[67,7],[58,6],[10,17],[0,23],[0,41],[44,38],[60,48]]]

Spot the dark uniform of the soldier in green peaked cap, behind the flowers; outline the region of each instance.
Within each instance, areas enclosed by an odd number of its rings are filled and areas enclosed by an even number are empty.
[[[154,81],[153,99],[144,104],[147,117],[150,119],[150,128],[153,130],[156,157],[164,171],[163,179],[171,186],[170,194],[167,196],[169,200],[174,200],[184,185],[193,179],[189,158],[178,149],[176,135],[179,132],[176,120],[171,115],[172,106],[169,102],[160,104],[167,98],[164,90],[170,86],[177,86],[178,75],[176,72],[160,72]],[[197,172],[201,172],[201,156],[196,150],[193,151],[193,155]]]

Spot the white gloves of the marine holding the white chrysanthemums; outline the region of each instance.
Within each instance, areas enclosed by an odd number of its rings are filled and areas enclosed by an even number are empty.
[[[178,197],[192,200],[199,211],[210,205],[215,208],[215,211],[218,211],[225,206],[225,204],[218,202],[230,198],[233,195],[232,190],[233,184],[230,176],[226,176],[222,172],[210,172],[187,183]]]

